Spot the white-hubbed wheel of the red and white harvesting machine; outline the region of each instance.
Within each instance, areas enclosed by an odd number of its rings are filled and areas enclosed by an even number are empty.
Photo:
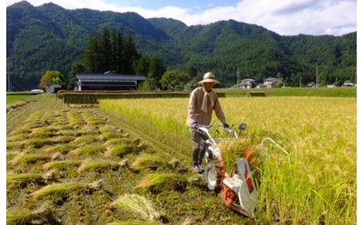
[[[220,191],[221,170],[221,166],[213,162],[209,162],[205,167],[205,183],[209,190],[214,192]]]

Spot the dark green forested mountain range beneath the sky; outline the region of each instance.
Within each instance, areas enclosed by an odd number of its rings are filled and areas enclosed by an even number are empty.
[[[223,85],[239,79],[281,77],[326,83],[354,79],[357,32],[344,36],[280,36],[262,26],[220,21],[186,26],[178,20],[145,19],[137,13],[66,10],[54,3],[21,1],[6,8],[6,58],[13,91],[36,88],[46,70],[68,76],[81,61],[90,35],[103,26],[131,34],[139,54],[162,59],[168,69],[212,70]],[[353,77],[352,77],[353,76]],[[323,83],[324,83],[323,82]],[[7,82],[8,83],[8,82]],[[321,82],[320,82],[321,84]]]

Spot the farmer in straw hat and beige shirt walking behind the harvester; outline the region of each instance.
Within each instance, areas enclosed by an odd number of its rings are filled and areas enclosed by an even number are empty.
[[[221,103],[218,100],[218,95],[212,90],[214,84],[221,84],[214,77],[212,72],[207,72],[203,79],[198,82],[202,85],[195,88],[190,95],[188,104],[188,118],[186,119],[186,125],[189,127],[191,133],[191,139],[193,140],[193,170],[197,173],[202,173],[204,168],[202,167],[202,159],[205,154],[205,149],[200,148],[200,141],[202,135],[197,132],[199,125],[210,125],[212,121],[213,110],[216,116],[223,126],[229,127],[225,122],[225,116]]]

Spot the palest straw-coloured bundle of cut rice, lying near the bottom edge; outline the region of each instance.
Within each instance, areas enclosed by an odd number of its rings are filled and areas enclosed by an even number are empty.
[[[155,222],[160,214],[154,209],[151,201],[138,194],[124,194],[110,203],[111,208],[118,208],[128,212],[135,219],[143,219],[147,222]]]

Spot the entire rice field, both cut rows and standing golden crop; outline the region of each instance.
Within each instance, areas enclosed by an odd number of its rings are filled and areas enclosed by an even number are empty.
[[[357,224],[357,98],[220,100],[247,124],[239,144],[261,150],[257,224]],[[6,224],[255,224],[192,171],[187,98],[99,102],[40,97],[7,115]]]

